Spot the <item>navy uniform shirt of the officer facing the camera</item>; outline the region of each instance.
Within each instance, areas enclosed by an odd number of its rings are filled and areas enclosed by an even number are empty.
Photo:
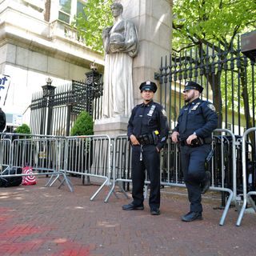
[[[169,133],[166,111],[163,107],[153,100],[149,104],[142,103],[135,106],[128,122],[128,138],[131,134],[136,138],[139,135],[152,134],[154,130],[159,132],[157,147],[160,150],[166,143]]]

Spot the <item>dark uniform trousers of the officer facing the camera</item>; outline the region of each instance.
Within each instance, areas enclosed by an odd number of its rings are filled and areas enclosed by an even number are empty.
[[[150,178],[150,209],[160,206],[160,154],[156,146],[142,146],[142,161],[140,161],[141,146],[132,147],[132,170],[133,182],[132,196],[135,206],[141,206],[144,201],[143,188],[146,178],[146,170]]]

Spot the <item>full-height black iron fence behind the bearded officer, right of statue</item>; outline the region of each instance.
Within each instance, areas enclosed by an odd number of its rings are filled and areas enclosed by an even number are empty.
[[[218,112],[218,128],[230,130],[235,134],[236,166],[238,193],[242,192],[242,149],[241,139],[244,132],[255,127],[255,58],[243,54],[240,37],[235,40],[236,45],[199,45],[197,48],[182,50],[162,57],[160,74],[155,77],[160,82],[160,103],[165,107],[170,120],[170,129],[176,126],[179,110],[184,105],[183,89],[187,81],[195,81],[204,87],[202,99],[214,103]],[[246,140],[246,180],[248,190],[255,190],[256,142],[253,131]],[[225,140],[222,142],[221,140]],[[233,158],[230,148],[233,146],[229,134],[214,136],[216,146],[213,162],[214,186],[219,186],[221,169],[225,168],[225,184],[232,186]],[[220,145],[222,145],[220,147]],[[225,158],[220,162],[219,155],[224,151]],[[170,150],[170,157],[174,155],[170,166],[177,167],[178,158],[175,150]],[[171,171],[171,170],[170,170]]]

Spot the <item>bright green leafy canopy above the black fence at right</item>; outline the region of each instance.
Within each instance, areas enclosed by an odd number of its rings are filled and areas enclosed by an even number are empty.
[[[255,27],[254,0],[174,0],[173,50],[202,43],[230,46],[238,33]]]

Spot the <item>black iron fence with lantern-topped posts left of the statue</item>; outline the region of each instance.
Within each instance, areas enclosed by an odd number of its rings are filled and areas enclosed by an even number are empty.
[[[42,92],[33,94],[30,129],[33,134],[69,136],[70,128],[82,110],[94,119],[101,116],[102,74],[86,73],[86,81],[72,81],[55,87],[48,80]]]

